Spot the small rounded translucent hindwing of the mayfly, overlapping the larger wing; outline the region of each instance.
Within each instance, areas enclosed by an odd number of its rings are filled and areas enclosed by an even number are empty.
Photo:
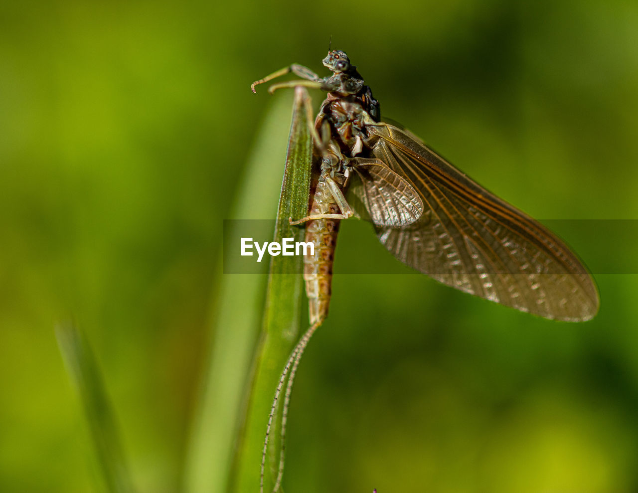
[[[419,193],[403,177],[377,159],[352,159],[355,176],[349,193],[363,203],[377,226],[406,226],[423,212]]]

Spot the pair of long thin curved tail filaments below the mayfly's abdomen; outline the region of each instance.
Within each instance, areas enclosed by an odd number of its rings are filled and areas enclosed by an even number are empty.
[[[281,376],[279,376],[279,383],[277,384],[277,390],[275,390],[274,399],[272,399],[271,413],[268,416],[268,425],[266,427],[266,436],[263,440],[263,450],[262,450],[262,470],[260,475],[260,484],[259,491],[263,493],[263,476],[266,464],[266,452],[268,450],[268,441],[271,434],[272,427],[272,419],[274,418],[275,411],[277,409],[277,403],[279,401],[279,395],[281,394],[281,388],[283,387],[284,382],[286,381],[286,376],[288,375],[288,371],[290,371],[290,377],[288,378],[288,384],[286,385],[286,393],[284,397],[283,411],[281,414],[281,452],[279,453],[279,472],[277,475],[277,480],[275,482],[274,488],[272,492],[276,492],[281,485],[281,477],[283,476],[283,466],[285,462],[285,449],[286,449],[286,420],[288,418],[288,406],[290,404],[290,394],[292,394],[292,384],[295,379],[295,372],[297,372],[297,366],[299,366],[299,361],[301,360],[301,356],[308,346],[308,341],[315,333],[315,330],[319,325],[321,325],[322,321],[317,321],[311,325],[306,333],[303,335],[299,342],[297,342],[297,346],[290,353],[290,357],[288,357],[288,361],[286,361],[286,366],[281,372]],[[290,369],[292,365],[292,370]]]

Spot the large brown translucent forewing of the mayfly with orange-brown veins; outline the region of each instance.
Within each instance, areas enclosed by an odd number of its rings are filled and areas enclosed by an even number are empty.
[[[378,226],[399,260],[458,290],[566,321],[589,320],[598,292],[574,253],[545,226],[473,182],[408,131],[368,126],[373,155],[419,192],[408,226]]]

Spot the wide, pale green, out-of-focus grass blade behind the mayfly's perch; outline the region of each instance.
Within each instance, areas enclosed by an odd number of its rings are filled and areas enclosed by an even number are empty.
[[[298,112],[297,112],[298,113]],[[278,93],[273,98],[272,106],[267,113],[267,117],[261,126],[261,131],[256,140],[254,151],[249,158],[244,181],[239,189],[237,198],[232,208],[231,217],[234,219],[265,219],[271,216],[277,207],[277,189],[280,181],[281,164],[285,156],[284,146],[286,133],[290,124],[290,92]],[[292,127],[297,128],[298,124],[293,122]],[[307,126],[306,126],[307,128]],[[288,151],[297,148],[290,145]],[[306,151],[308,153],[308,151]],[[309,158],[308,158],[309,159]],[[288,158],[290,162],[290,158]],[[306,173],[307,174],[307,173]],[[286,178],[285,178],[286,180]],[[291,183],[290,180],[293,182]],[[279,200],[279,203],[288,202],[296,204],[296,209],[290,210],[289,216],[293,212],[300,210],[301,202],[305,201],[302,208],[306,214],[308,207],[308,178],[304,178],[306,196],[297,189],[291,195],[290,192],[294,182],[299,181],[296,177],[288,175],[288,185],[283,189],[286,191],[286,199]],[[299,195],[299,196],[298,196]],[[300,228],[290,228],[287,223],[288,216],[282,216],[285,211],[280,211],[279,216],[285,217],[285,221],[277,223],[277,235],[284,235],[292,232],[288,237],[297,239],[300,235]],[[288,229],[289,228],[289,229]],[[228,232],[232,237],[232,231]],[[282,258],[282,257],[276,257]],[[285,257],[285,259],[295,259],[299,262],[300,257]],[[270,402],[274,392],[274,383],[269,384],[269,388],[263,390],[263,395],[256,396],[257,392],[262,392],[259,386],[253,386],[253,376],[255,375],[255,348],[260,338],[260,328],[264,320],[264,290],[267,285],[264,272],[263,276],[256,274],[234,274],[224,275],[221,272],[223,262],[219,261],[219,291],[216,293],[214,301],[214,313],[212,316],[212,330],[214,341],[212,342],[211,357],[207,368],[204,382],[202,383],[202,397],[200,407],[195,411],[195,418],[191,430],[191,443],[189,454],[186,460],[186,474],[184,490],[189,493],[209,493],[224,492],[230,490],[231,464],[238,443],[241,443],[241,452],[238,455],[236,469],[244,470],[244,444],[251,438],[240,440],[242,432],[248,431],[249,426],[244,424],[246,416],[246,406],[248,403]],[[271,266],[272,267],[272,266]],[[275,266],[275,268],[278,268]],[[290,269],[290,266],[283,268]],[[300,303],[300,268],[295,267],[297,274],[286,274],[288,278],[296,277],[296,280],[279,279],[268,282],[268,290],[283,289],[288,292],[288,300],[297,300],[290,306],[292,318],[299,321]],[[292,270],[295,272],[295,270]],[[283,277],[286,277],[283,276]],[[271,276],[272,279],[272,276]],[[275,283],[278,286],[273,286]],[[294,293],[294,294],[291,294]],[[294,298],[293,298],[294,297]],[[269,297],[272,300],[272,297]],[[270,303],[270,301],[269,301]],[[267,313],[274,313],[269,310]],[[285,313],[285,310],[284,312]],[[279,312],[279,316],[283,316]],[[282,321],[283,323],[283,321]],[[293,332],[296,327],[288,327],[286,338],[286,348],[290,348]],[[262,342],[265,339],[262,338]],[[263,346],[260,346],[263,348]],[[287,351],[288,349],[286,349]],[[282,354],[286,355],[286,351]],[[287,355],[286,355],[287,356]],[[267,358],[269,359],[269,358]],[[285,360],[285,356],[283,357]],[[274,364],[273,364],[274,365]],[[283,365],[283,362],[281,363]],[[281,366],[276,364],[276,366]],[[280,371],[277,369],[276,371]],[[257,374],[260,374],[258,371]],[[276,381],[276,380],[275,380]],[[263,386],[266,384],[263,383]],[[251,392],[252,391],[252,392]],[[268,404],[269,406],[269,404]],[[260,416],[259,441],[263,441],[265,431],[265,420],[267,412]],[[252,415],[252,413],[249,413]],[[251,452],[246,452],[246,456],[253,460],[251,466],[246,467],[246,473],[253,476],[254,486],[258,488],[260,443]],[[240,475],[243,473],[240,472]],[[256,478],[256,480],[255,480]],[[249,482],[249,480],[246,480]],[[237,483],[243,483],[237,479]]]

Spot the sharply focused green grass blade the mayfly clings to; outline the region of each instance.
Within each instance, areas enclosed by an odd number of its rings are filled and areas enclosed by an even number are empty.
[[[303,228],[290,226],[289,217],[308,213],[312,138],[304,114],[300,89],[295,92],[288,154],[279,198],[275,240],[303,239]],[[263,319],[263,333],[256,351],[256,371],[249,396],[246,427],[239,443],[232,491],[258,491],[260,462],[267,417],[279,374],[292,350],[301,325],[303,298],[302,256],[272,257]],[[274,444],[274,441],[273,441]],[[271,446],[270,457],[279,457]]]

